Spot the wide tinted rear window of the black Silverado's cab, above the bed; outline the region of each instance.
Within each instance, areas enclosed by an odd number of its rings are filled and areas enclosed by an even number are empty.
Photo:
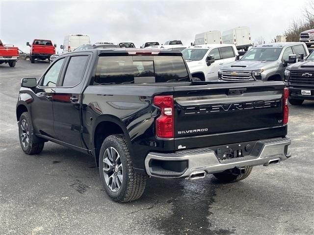
[[[189,81],[181,56],[102,56],[94,85]]]

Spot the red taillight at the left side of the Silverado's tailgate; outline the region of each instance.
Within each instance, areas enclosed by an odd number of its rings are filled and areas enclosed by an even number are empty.
[[[156,135],[159,138],[174,138],[173,97],[172,95],[157,95],[154,105],[161,109],[156,118]]]

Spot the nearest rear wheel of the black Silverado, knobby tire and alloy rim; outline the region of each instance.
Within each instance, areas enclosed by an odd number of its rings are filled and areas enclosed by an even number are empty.
[[[115,159],[120,159],[120,162],[113,164],[113,166],[109,166],[109,164],[104,163],[104,161],[110,160],[110,157],[107,154],[107,151],[113,149],[118,153],[115,155]],[[112,152],[111,152],[112,156]],[[113,157],[112,157],[113,158]],[[114,161],[110,160],[110,164],[112,164]],[[117,171],[119,169],[119,165],[122,164],[121,171]],[[112,167],[112,168],[111,168]],[[109,172],[111,168],[112,173],[111,175],[107,172]],[[99,153],[99,172],[100,172],[100,178],[102,180],[103,187],[105,188],[105,191],[107,195],[115,202],[130,202],[133,200],[136,200],[140,198],[144,192],[145,185],[146,185],[146,175],[142,175],[139,173],[134,172],[133,166],[132,166],[132,160],[130,156],[130,151],[128,147],[128,143],[124,137],[124,135],[111,135],[108,136],[105,141],[102,144],[102,147],[100,149]],[[122,177],[121,177],[122,173]],[[114,174],[116,176],[114,176]],[[119,180],[119,177],[117,174],[120,174],[120,177],[122,178],[122,182]],[[105,180],[105,175],[106,179]],[[110,176],[109,176],[110,175]],[[111,181],[110,181],[111,177]],[[112,182],[114,182],[114,177],[116,177],[115,180],[115,188],[113,188]],[[106,182],[107,181],[107,182]],[[111,188],[110,188],[110,182],[111,182]],[[120,188],[117,186],[120,182]],[[114,191],[117,190],[117,191]]]

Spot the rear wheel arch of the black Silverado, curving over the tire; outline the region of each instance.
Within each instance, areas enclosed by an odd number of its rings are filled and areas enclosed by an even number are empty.
[[[103,141],[108,136],[115,134],[123,134],[125,136],[130,152],[132,153],[129,132],[120,118],[113,115],[102,115],[96,119],[92,133],[92,143],[97,166],[99,165],[99,152]]]

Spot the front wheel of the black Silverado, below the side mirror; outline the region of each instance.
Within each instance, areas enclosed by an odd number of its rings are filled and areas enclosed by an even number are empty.
[[[24,123],[26,125],[24,125]],[[26,137],[25,141],[23,141],[24,137]],[[26,144],[27,137],[28,137],[28,143]],[[19,139],[20,139],[22,150],[26,154],[29,154],[29,155],[39,154],[44,148],[45,142],[42,140],[39,140],[35,136],[33,124],[27,112],[23,113],[19,120]]]

